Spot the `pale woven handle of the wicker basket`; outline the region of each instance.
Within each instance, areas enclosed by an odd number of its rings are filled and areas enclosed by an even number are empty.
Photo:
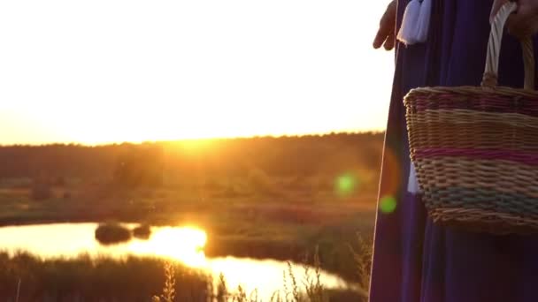
[[[518,9],[513,2],[504,4],[497,12],[491,24],[489,34],[488,56],[486,57],[486,69],[482,78],[482,87],[496,87],[499,70],[499,55],[501,53],[501,41],[503,40],[503,28],[506,20],[512,12]],[[523,52],[523,64],[525,65],[525,89],[534,90],[534,49],[533,40],[530,36],[521,39]]]

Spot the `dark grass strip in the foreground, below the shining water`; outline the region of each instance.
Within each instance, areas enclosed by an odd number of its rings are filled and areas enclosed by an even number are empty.
[[[273,297],[265,298],[258,297],[257,291],[230,289],[225,276],[213,280],[181,263],[157,258],[113,260],[81,255],[42,260],[30,253],[0,253],[0,297],[14,301],[19,295],[19,302],[347,302],[365,298],[364,292],[327,291],[319,259],[315,261],[315,268],[304,267],[304,276],[294,276],[288,263],[282,281],[291,281],[291,286],[283,285]]]

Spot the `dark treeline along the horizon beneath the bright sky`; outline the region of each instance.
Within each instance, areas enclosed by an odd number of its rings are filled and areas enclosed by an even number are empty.
[[[382,132],[300,137],[181,140],[97,147],[0,147],[0,178],[48,177],[159,185],[165,179],[242,177],[262,170],[277,177],[380,169]]]

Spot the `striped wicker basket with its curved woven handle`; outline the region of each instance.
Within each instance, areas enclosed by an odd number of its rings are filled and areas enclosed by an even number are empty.
[[[525,89],[497,87],[503,26],[492,24],[481,87],[422,87],[404,98],[419,187],[434,222],[494,234],[538,232],[538,93],[530,38]]]

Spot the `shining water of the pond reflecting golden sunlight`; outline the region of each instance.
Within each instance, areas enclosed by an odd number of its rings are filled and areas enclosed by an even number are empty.
[[[135,225],[127,225],[133,228]],[[246,258],[208,258],[204,254],[207,236],[195,227],[152,228],[149,239],[133,238],[119,245],[100,245],[94,238],[96,223],[58,223],[0,228],[0,250],[8,253],[27,251],[44,259],[58,256],[72,258],[87,253],[90,256],[122,258],[128,254],[158,256],[179,260],[191,268],[204,269],[219,278],[226,276],[231,289],[241,285],[247,292],[257,290],[260,297],[282,288],[286,262]],[[295,265],[293,274],[304,276],[304,268]],[[348,284],[338,276],[322,272],[322,283],[327,288],[346,288]],[[289,280],[288,280],[289,282]],[[290,284],[288,284],[288,288]]]

